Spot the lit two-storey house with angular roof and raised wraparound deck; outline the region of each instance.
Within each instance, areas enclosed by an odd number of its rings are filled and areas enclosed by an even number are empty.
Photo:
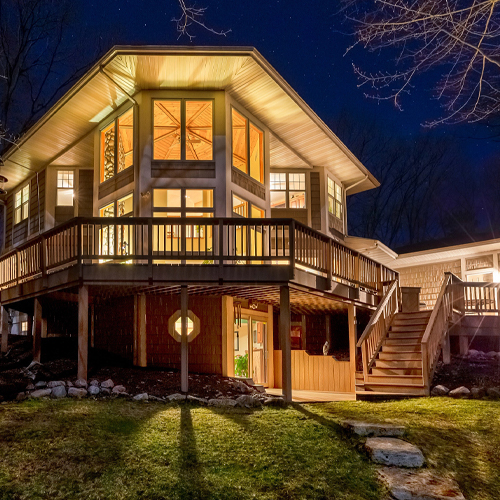
[[[398,311],[397,273],[344,243],[377,180],[253,48],[115,47],[3,162],[3,352],[10,312],[35,359],[74,337],[82,378],[91,347],[185,391],[354,393],[356,318]]]

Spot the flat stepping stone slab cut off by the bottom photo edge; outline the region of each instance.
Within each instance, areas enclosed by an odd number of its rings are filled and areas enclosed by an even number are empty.
[[[379,475],[396,500],[465,500],[455,481],[427,470],[415,472],[384,467]]]

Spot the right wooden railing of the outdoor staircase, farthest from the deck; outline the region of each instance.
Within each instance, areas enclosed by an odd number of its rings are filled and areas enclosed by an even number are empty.
[[[451,273],[445,273],[436,304],[422,336],[422,377],[427,391],[430,389],[429,381],[434,374],[443,339],[448,332],[448,320],[453,312],[450,285],[454,277]]]

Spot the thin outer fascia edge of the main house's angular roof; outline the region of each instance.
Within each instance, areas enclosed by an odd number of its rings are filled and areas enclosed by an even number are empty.
[[[339,149],[356,165],[364,176],[371,181],[374,187],[380,186],[379,181],[373,174],[356,158],[347,146],[330,130],[325,122],[311,109],[311,107],[297,94],[288,82],[274,69],[274,67],[262,56],[255,47],[196,47],[196,46],[175,46],[175,45],[115,45],[104,56],[102,56],[81,78],[76,82],[35,124],[33,124],[21,137],[17,145],[11,146],[3,155],[4,160],[8,160],[13,151],[19,149],[40,127],[42,127],[59,109],[92,78],[94,78],[101,68],[106,67],[118,55],[147,55],[158,53],[171,54],[221,54],[221,55],[247,55],[254,60],[280,85],[287,95],[302,109],[303,112],[329,137]],[[321,166],[321,165],[318,165]],[[363,180],[361,178],[360,180]]]

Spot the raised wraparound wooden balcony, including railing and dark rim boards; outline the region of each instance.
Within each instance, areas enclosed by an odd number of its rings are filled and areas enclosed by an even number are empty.
[[[74,218],[0,257],[2,304],[76,284],[287,282],[376,305],[397,273],[293,219]]]

